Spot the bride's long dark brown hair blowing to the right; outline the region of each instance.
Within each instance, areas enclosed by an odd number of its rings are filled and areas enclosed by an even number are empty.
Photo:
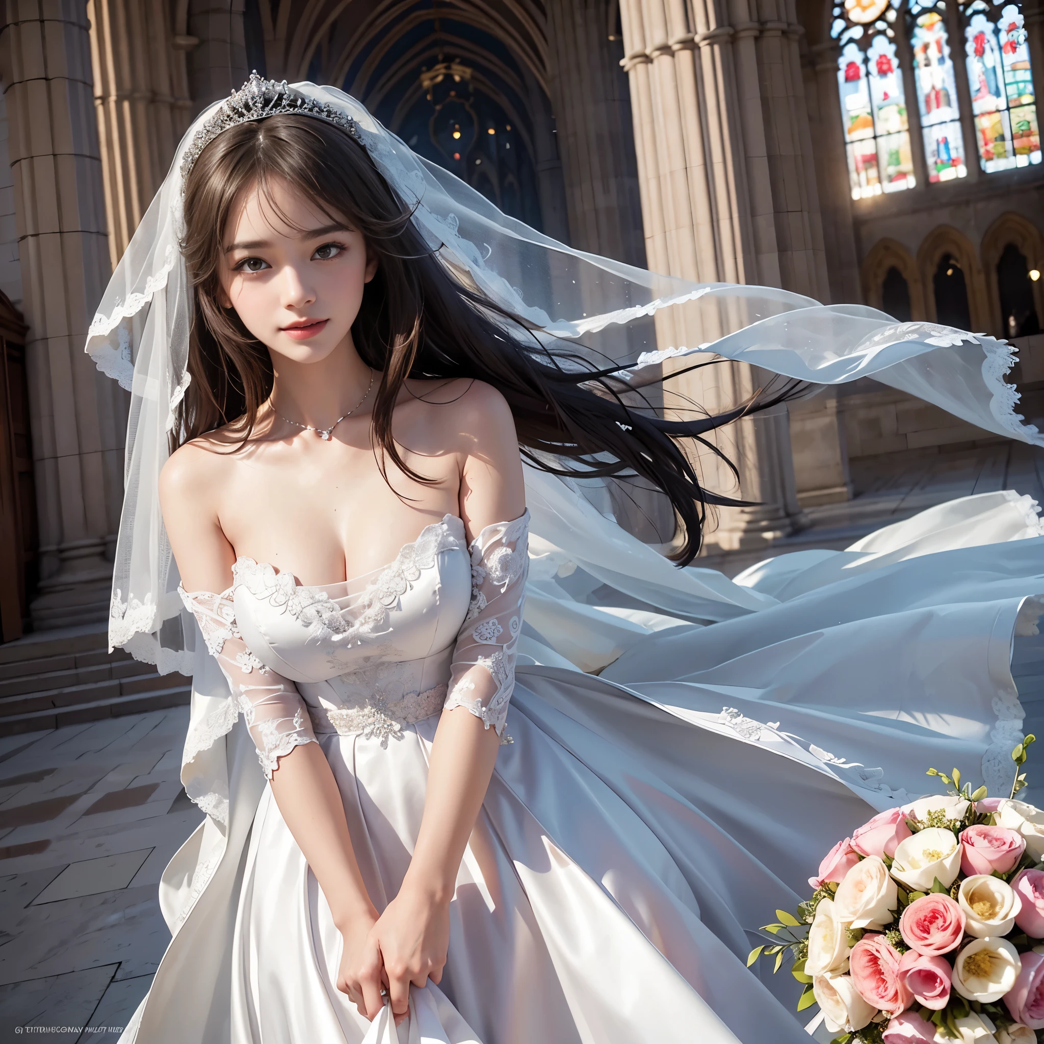
[[[456,279],[422,240],[365,149],[338,127],[307,116],[270,116],[224,130],[186,181],[182,250],[194,293],[192,380],[179,406],[175,444],[224,425],[245,442],[271,393],[268,350],[233,309],[220,306],[218,288],[222,236],[237,196],[256,185],[272,201],[277,180],[360,232],[378,259],[352,338],[363,361],[381,375],[372,437],[382,471],[390,459],[426,480],[404,464],[393,438],[392,414],[404,381],[473,378],[504,396],[521,451],[537,467],[559,475],[630,478],[665,494],[684,527],[672,555],[681,565],[699,550],[707,504],[743,503],[704,490],[677,440],[696,438],[717,452],[705,441],[707,432],[775,405],[782,394],[692,421],[667,421],[642,402],[636,405],[634,393],[612,376],[615,366],[598,370],[575,353],[547,348],[526,335],[531,328],[524,321]],[[550,464],[548,456],[559,460]]]

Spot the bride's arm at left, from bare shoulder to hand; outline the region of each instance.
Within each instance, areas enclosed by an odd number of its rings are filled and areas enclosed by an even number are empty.
[[[232,580],[235,551],[221,531],[212,501],[214,490],[221,489],[220,468],[227,458],[201,448],[185,446],[167,461],[160,476],[160,503],[177,562],[182,586],[189,592],[226,591]],[[289,706],[270,707],[274,701],[303,702],[292,682],[268,671],[263,678],[239,677],[235,664],[238,638],[222,642],[218,662],[234,689],[250,699],[252,693],[266,695],[257,704],[265,706],[269,716],[293,716]],[[245,650],[245,645],[243,646]],[[218,654],[215,654],[218,655]],[[278,690],[278,691],[275,691]],[[272,694],[275,691],[275,694]],[[345,940],[337,988],[349,995],[360,1014],[374,1019],[383,1004],[381,958],[370,931],[377,922],[377,910],[366,894],[345,817],[345,806],[333,772],[315,742],[292,746],[275,759],[270,785],[276,804],[293,839],[304,854],[326,896]]]

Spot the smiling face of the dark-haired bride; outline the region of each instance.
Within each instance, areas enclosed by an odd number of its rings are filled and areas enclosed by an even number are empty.
[[[235,308],[271,352],[318,362],[348,336],[377,259],[360,233],[331,221],[285,182],[269,188],[270,200],[254,187],[232,209],[219,304]]]

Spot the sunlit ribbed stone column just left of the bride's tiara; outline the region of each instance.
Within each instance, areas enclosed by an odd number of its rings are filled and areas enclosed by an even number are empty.
[[[109,215],[120,259],[191,119],[186,35],[167,0],[88,0],[94,101]]]

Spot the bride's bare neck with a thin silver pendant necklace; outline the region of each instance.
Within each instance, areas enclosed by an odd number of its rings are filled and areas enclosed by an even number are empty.
[[[275,381],[268,402],[283,420],[302,426],[327,428],[338,418],[354,412],[371,389],[374,372],[351,342],[338,346],[318,362],[295,362],[272,355]]]

